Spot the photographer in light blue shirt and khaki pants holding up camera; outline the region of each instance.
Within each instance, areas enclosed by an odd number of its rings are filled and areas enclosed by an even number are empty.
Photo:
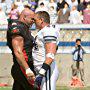
[[[84,82],[84,61],[83,61],[84,54],[85,51],[81,46],[81,39],[76,39],[75,48],[73,48],[72,50],[73,55],[73,64],[71,66],[72,77],[79,77],[80,72],[80,78],[82,82]]]

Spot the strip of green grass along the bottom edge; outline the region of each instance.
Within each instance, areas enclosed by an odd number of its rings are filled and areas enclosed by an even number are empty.
[[[11,87],[0,87],[0,90],[12,90]],[[90,90],[90,87],[83,87],[83,88],[70,88],[66,86],[57,86],[56,90]]]

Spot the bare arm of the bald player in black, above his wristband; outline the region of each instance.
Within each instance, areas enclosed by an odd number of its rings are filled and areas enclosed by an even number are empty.
[[[23,45],[24,40],[21,36],[13,36],[12,37],[12,46],[14,49],[14,54],[16,56],[16,60],[19,63],[20,66],[22,66],[25,70],[29,68],[27,62],[25,61],[24,55],[23,55]]]

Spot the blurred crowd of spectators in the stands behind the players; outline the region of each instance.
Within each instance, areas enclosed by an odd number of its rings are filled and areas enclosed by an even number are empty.
[[[11,4],[10,4],[11,3]],[[46,11],[51,24],[90,24],[90,0],[38,0],[38,1],[0,1],[0,25],[7,24],[7,19],[18,19],[24,8],[34,12]]]

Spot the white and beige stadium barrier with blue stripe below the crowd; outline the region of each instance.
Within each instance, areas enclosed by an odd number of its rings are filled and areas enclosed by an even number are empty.
[[[58,24],[55,26],[56,30],[60,30],[60,37],[59,37],[59,53],[64,51],[63,53],[70,53],[71,48],[75,45],[76,38],[81,38],[82,46],[86,48],[87,53],[90,53],[90,25],[71,25],[71,24]],[[5,49],[6,46],[6,31],[7,26],[0,27],[0,53],[11,53],[10,50]],[[63,47],[63,50],[62,48]],[[71,47],[71,48],[70,48]],[[66,49],[67,48],[67,49]]]

